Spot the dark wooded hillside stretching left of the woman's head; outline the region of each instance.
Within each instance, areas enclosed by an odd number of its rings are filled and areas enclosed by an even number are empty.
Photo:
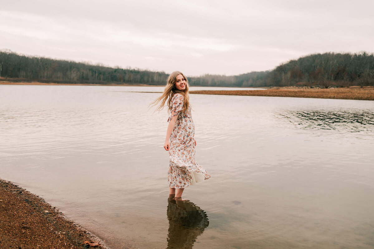
[[[165,85],[165,72],[112,68],[103,65],[31,57],[11,51],[0,52],[0,77],[9,81],[90,84],[151,84]]]

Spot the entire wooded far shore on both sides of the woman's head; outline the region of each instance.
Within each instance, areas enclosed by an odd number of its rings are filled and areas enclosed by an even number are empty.
[[[0,52],[0,80],[89,84],[165,85],[168,74]],[[188,77],[191,86],[373,86],[374,55],[361,52],[311,54],[273,70],[241,75]]]

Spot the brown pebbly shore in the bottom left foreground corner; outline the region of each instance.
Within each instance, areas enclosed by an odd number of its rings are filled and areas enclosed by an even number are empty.
[[[0,248],[108,247],[43,198],[0,179]]]

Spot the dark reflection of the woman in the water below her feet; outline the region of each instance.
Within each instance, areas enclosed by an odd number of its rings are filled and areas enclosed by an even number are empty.
[[[208,227],[205,211],[187,200],[168,198],[168,248],[192,248],[197,236]]]

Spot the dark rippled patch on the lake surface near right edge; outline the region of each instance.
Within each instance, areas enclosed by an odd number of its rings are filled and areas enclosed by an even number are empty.
[[[342,110],[289,111],[281,116],[301,128],[324,130],[349,130],[350,132],[374,131],[374,113],[368,111]]]

